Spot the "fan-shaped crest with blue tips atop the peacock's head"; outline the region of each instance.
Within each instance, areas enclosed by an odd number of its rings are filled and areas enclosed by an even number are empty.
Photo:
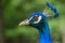
[[[58,17],[58,12],[57,12],[57,10],[56,10],[56,8],[54,5],[52,5],[49,2],[47,2],[47,6],[50,8],[50,9],[47,9],[47,8],[44,9],[43,15],[46,15],[46,17],[50,17],[50,16],[51,17]],[[48,15],[48,13],[50,13],[49,10],[53,11],[54,15]]]

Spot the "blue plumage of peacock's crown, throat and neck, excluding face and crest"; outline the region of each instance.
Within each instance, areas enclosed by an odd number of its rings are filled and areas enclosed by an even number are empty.
[[[37,12],[32,13],[29,18],[35,15],[42,16],[42,19],[38,24],[30,24],[30,26],[39,30],[39,43],[52,43],[46,16],[41,12]]]

